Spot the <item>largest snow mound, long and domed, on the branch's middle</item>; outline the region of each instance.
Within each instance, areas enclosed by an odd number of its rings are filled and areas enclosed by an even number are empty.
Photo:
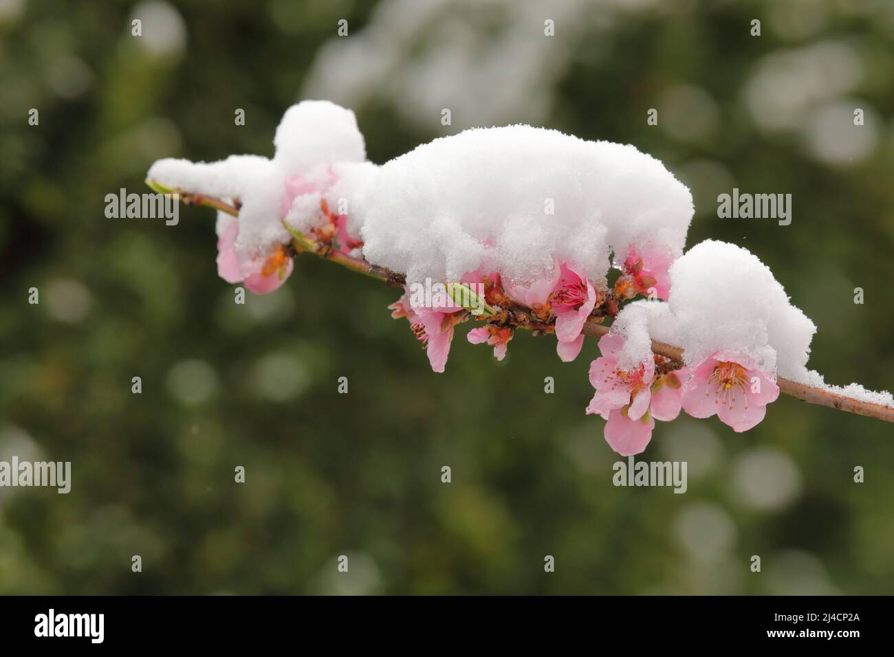
[[[417,147],[379,167],[357,209],[367,260],[409,282],[482,266],[531,282],[557,260],[597,281],[630,245],[678,257],[693,215],[687,187],[654,157],[527,125]]]

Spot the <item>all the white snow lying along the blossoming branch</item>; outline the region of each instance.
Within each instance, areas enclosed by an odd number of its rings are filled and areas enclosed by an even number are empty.
[[[354,114],[327,101],[289,108],[274,146],[272,158],[159,160],[148,178],[239,199],[238,219],[218,213],[216,232],[239,222],[240,259],[287,242],[283,217],[307,232],[325,200],[365,240],[363,256],[408,283],[483,269],[500,272],[509,288],[550,277],[557,262],[600,282],[611,254],[664,248],[678,258],[670,299],[635,301],[615,318],[611,332],[625,338],[620,366],[651,358],[654,339],[682,348],[687,365],[715,351],[741,355],[797,383],[894,407],[890,392],[831,385],[806,368],[816,326],[745,248],[706,240],[681,256],[692,196],[635,147],[514,125],[435,139],[378,167],[366,160]]]

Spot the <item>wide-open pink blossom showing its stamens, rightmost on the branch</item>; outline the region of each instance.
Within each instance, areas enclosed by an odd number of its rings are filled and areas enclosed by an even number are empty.
[[[757,425],[767,404],[780,396],[775,377],[755,367],[747,357],[715,352],[694,367],[683,393],[683,409],[692,417],[711,417],[735,432]]]

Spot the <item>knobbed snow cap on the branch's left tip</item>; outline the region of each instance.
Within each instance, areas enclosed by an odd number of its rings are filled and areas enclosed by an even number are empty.
[[[236,251],[250,257],[291,239],[283,226],[284,215],[299,230],[307,230],[319,216],[320,198],[333,204],[339,198],[350,199],[349,186],[361,186],[373,166],[365,162],[366,147],[354,113],[325,100],[292,105],[276,128],[274,146],[273,158],[230,156],[212,163],[158,160],[148,179],[230,203],[239,199]],[[309,194],[295,198],[297,207],[283,208],[286,181],[293,176],[322,191],[309,201]],[[336,184],[328,187],[333,180]]]

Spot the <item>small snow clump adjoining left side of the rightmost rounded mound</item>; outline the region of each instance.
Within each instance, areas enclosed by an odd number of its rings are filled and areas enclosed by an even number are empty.
[[[624,338],[617,358],[622,369],[632,369],[652,358],[652,341],[679,344],[676,319],[663,301],[641,299],[623,307],[611,324],[611,333]]]

